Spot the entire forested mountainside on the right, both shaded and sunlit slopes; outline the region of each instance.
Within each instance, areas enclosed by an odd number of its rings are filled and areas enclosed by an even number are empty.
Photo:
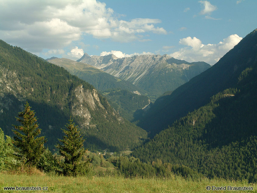
[[[256,77],[257,29],[212,68],[157,101],[164,113],[171,111],[167,113],[169,118],[161,114],[165,121],[173,120],[175,111],[193,111],[170,124],[133,155],[144,162],[160,159],[183,164],[209,177],[257,181]],[[187,101],[190,98],[192,105]],[[175,103],[185,106],[180,110]],[[204,105],[199,107],[201,104]]]

